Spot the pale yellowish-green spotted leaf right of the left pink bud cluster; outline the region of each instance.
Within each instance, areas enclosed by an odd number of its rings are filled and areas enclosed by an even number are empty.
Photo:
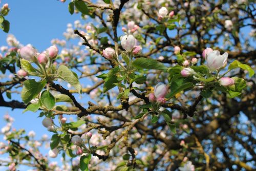
[[[58,75],[61,79],[67,81],[73,86],[79,94],[81,94],[81,84],[78,78],[73,74],[73,72],[66,66],[61,65],[57,70]]]

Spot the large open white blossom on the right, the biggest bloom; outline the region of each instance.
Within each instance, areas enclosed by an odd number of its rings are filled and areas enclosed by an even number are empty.
[[[220,51],[214,50],[207,55],[206,62],[207,66],[211,70],[218,70],[226,65],[228,53],[225,52],[223,55]]]

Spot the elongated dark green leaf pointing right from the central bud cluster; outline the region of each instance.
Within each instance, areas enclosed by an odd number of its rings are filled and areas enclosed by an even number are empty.
[[[133,61],[132,65],[137,69],[155,69],[166,70],[167,67],[163,63],[151,58],[137,58]]]

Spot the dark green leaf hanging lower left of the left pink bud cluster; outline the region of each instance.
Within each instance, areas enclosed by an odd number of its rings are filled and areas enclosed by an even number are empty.
[[[36,82],[34,79],[29,79],[24,81],[23,84],[24,87],[22,89],[22,100],[24,103],[28,104],[46,86],[46,80]]]

